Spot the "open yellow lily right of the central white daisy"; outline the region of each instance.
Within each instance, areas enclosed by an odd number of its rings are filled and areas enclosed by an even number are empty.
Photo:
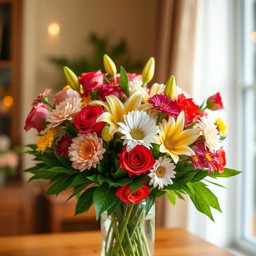
[[[175,163],[179,160],[178,155],[191,156],[195,154],[189,145],[199,137],[199,131],[196,129],[183,130],[183,111],[178,115],[176,122],[172,116],[169,116],[168,122],[163,119],[159,126],[160,132],[156,144],[160,144],[160,152],[170,155]]]

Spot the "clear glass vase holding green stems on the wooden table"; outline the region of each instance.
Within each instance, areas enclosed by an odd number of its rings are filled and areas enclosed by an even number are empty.
[[[155,205],[121,203],[110,215],[101,215],[101,256],[153,256]],[[145,216],[146,215],[146,216]]]

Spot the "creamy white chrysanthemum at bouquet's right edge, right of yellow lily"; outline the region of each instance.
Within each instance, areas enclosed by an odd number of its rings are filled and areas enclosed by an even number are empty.
[[[206,118],[206,116],[202,116],[194,128],[200,131],[200,135],[205,139],[205,146],[209,148],[211,152],[215,152],[220,149],[219,131],[216,129],[217,126],[211,122],[211,120]]]

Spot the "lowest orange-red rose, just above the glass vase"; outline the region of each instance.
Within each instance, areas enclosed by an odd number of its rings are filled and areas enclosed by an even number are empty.
[[[133,204],[138,204],[143,199],[147,199],[148,194],[150,193],[150,189],[148,186],[146,186],[146,183],[146,181],[143,182],[142,188],[138,188],[132,192],[132,194],[130,194],[131,188],[128,186],[129,184],[119,187],[116,192],[116,196],[126,204],[129,204],[130,202]]]

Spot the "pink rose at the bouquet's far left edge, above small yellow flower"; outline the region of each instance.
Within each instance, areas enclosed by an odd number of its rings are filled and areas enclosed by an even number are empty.
[[[46,120],[46,116],[49,114],[47,107],[43,103],[39,103],[32,108],[25,122],[24,130],[27,132],[30,128],[35,128],[38,132],[41,132],[44,128],[44,124],[40,120]]]

